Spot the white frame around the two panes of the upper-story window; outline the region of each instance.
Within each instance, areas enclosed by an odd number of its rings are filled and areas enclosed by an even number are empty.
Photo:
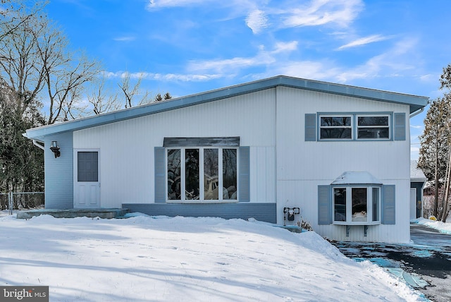
[[[351,138],[321,138],[321,117],[351,117]],[[388,116],[388,138],[358,138],[359,126],[358,118],[360,116]],[[316,137],[319,142],[380,142],[392,141],[394,138],[394,113],[393,111],[372,111],[372,112],[318,112],[316,114]],[[332,128],[332,127],[330,127]],[[339,128],[339,127],[337,127]],[[341,127],[342,128],[342,127]]]

